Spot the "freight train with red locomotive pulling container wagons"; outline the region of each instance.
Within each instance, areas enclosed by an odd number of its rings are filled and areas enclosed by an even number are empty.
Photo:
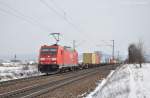
[[[58,44],[41,46],[38,61],[38,70],[47,74],[114,64],[102,63],[101,54],[96,52],[83,53],[82,63],[79,63],[76,49]]]

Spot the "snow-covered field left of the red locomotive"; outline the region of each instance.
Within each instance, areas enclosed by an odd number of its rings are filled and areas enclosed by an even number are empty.
[[[38,72],[35,65],[17,65],[17,66],[0,66],[0,82],[13,79],[37,76]]]

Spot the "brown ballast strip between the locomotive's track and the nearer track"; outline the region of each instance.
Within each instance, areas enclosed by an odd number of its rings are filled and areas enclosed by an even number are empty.
[[[29,77],[29,78],[23,78],[23,79],[17,79],[13,81],[8,81],[0,86],[0,94],[5,92],[10,92],[14,89],[18,90],[24,87],[28,87],[32,84],[40,84],[40,83],[46,83],[51,80],[59,80],[63,79],[65,75],[71,75],[74,73],[77,73],[78,71],[74,72],[65,72],[65,73],[57,73],[52,75],[43,75],[43,76],[37,76],[37,77]]]

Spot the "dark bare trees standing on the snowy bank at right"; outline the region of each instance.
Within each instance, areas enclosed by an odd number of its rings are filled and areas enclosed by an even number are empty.
[[[128,61],[129,63],[142,63],[145,62],[143,42],[139,41],[137,44],[130,44],[128,47]]]

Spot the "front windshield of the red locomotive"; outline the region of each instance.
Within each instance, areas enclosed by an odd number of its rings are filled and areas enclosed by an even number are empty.
[[[42,48],[41,54],[50,54],[50,55],[56,55],[57,48]]]

